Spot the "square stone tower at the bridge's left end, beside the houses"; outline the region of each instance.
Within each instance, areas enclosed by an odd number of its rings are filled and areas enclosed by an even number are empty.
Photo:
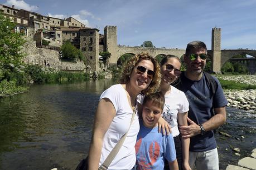
[[[117,26],[106,26],[104,28],[104,52],[111,53],[110,64],[116,63],[117,56]]]

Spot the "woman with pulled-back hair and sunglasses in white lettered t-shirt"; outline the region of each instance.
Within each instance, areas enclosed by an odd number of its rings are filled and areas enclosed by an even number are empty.
[[[170,84],[177,81],[181,74],[181,62],[176,56],[167,55],[161,62],[161,92],[165,94],[165,107],[162,117],[172,127],[172,136],[175,142],[176,156],[179,169],[191,169],[189,166],[190,139],[180,138],[179,125],[187,125],[187,111],[189,102],[185,94]]]

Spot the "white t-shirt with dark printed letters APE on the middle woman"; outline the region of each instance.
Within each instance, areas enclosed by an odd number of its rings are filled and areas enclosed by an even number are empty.
[[[165,95],[165,107],[163,108],[161,116],[172,127],[173,137],[180,134],[180,131],[178,131],[177,114],[187,111],[189,111],[189,101],[187,101],[185,93],[171,86],[171,92]]]

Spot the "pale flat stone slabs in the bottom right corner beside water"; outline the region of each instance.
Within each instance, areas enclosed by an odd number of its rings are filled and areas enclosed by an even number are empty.
[[[238,161],[238,166],[229,164],[228,167],[226,167],[226,170],[238,170],[238,169],[240,169],[240,170],[249,170],[249,169],[256,170],[256,148],[253,149],[250,157],[245,157],[243,159],[240,159]]]

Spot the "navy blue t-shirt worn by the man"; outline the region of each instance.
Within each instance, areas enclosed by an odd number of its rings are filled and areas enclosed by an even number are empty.
[[[191,81],[184,74],[181,76],[181,90],[186,94],[187,100],[189,101],[188,116],[196,124],[202,124],[208,121],[214,115],[213,108],[224,107],[228,104],[220,82],[214,76],[212,77],[217,86],[214,98],[212,97],[212,92],[207,85],[204,74],[199,81]],[[190,138],[190,151],[210,151],[216,147],[213,131],[208,131],[203,136],[198,134]]]

